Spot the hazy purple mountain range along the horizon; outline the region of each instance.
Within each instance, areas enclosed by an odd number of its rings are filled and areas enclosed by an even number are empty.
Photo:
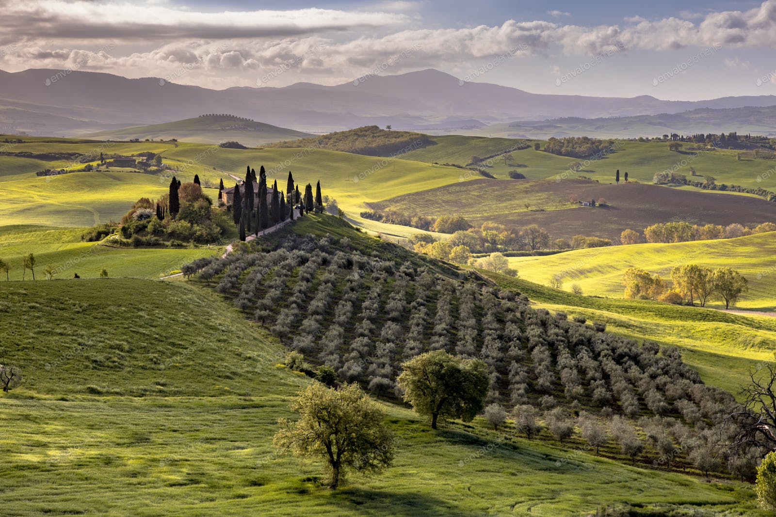
[[[559,117],[589,119],[774,105],[774,95],[685,102],[649,95],[534,94],[497,84],[459,81],[436,70],[368,76],[336,86],[297,83],[284,88],[226,90],[85,71],[0,71],[0,132],[51,136],[159,124],[203,113],[230,113],[310,133],[371,124],[452,132]],[[520,133],[519,129],[514,133]]]

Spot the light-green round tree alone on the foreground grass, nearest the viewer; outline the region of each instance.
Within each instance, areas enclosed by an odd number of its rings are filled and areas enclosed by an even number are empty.
[[[358,384],[338,390],[311,384],[300,392],[291,410],[300,419],[279,419],[273,443],[297,456],[323,457],[332,489],[348,470],[372,474],[393,463],[394,439],[385,425],[385,412]]]

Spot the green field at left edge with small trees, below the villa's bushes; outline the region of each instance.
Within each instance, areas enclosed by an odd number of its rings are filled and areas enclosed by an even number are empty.
[[[125,248],[101,243],[81,242],[85,229],[61,229],[45,226],[0,226],[0,258],[10,267],[10,279],[30,279],[23,275],[23,256],[34,253],[36,278],[46,278],[43,270],[53,267],[55,278],[99,277],[102,268],[111,277],[160,277],[177,271],[198,257],[222,253],[218,246],[196,248]],[[5,273],[0,273],[5,281]]]

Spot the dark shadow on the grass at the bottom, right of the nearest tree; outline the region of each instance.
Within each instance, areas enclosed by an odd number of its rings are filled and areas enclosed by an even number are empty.
[[[338,499],[359,506],[359,515],[390,515],[400,517],[416,517],[417,515],[464,515],[453,501],[445,501],[430,495],[414,492],[367,490],[364,488],[347,488],[342,490]]]

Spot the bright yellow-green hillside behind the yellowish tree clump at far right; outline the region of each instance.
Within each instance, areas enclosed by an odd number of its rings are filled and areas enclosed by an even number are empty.
[[[739,306],[757,310],[776,310],[776,253],[774,233],[758,233],[737,239],[695,241],[673,244],[635,244],[591,250],[573,250],[550,257],[512,257],[511,267],[521,277],[549,283],[555,274],[563,274],[564,288],[579,284],[587,295],[622,298],[622,275],[629,267],[641,267],[670,280],[672,267],[691,262],[706,267],[729,266],[749,281],[749,291]],[[710,302],[712,307],[722,307]]]

